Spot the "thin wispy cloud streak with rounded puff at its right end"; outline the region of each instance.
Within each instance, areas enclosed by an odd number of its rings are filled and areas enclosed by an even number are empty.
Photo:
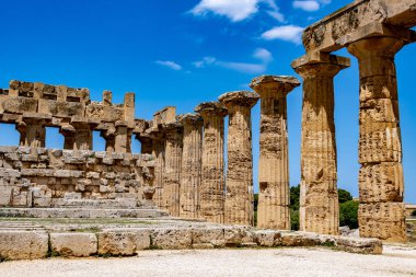
[[[199,61],[193,62],[196,68],[206,68],[209,66],[216,66],[221,68],[231,69],[242,73],[262,73],[267,70],[268,64],[273,60],[271,53],[264,48],[255,49],[253,58],[259,59],[262,62],[235,62],[218,60],[215,57],[204,57]]]

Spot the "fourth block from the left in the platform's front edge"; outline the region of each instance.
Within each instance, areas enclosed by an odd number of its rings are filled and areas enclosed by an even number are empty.
[[[152,232],[153,246],[164,250],[190,249],[192,230],[190,229],[155,229]]]

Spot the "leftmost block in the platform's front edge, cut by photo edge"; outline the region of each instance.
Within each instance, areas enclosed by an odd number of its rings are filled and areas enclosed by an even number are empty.
[[[33,259],[46,257],[49,236],[41,231],[0,230],[0,258]]]

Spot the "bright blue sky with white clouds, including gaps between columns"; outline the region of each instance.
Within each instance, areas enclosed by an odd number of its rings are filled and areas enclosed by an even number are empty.
[[[249,89],[263,73],[297,76],[303,27],[348,0],[2,0],[0,86],[12,79],[89,88],[92,100],[136,92],[136,116],[166,105],[188,113],[228,91]],[[415,46],[396,56],[404,150],[405,200],[416,203]],[[350,57],[345,50],[338,55]],[[358,196],[358,67],[335,79],[338,186]],[[288,96],[290,184],[300,181],[301,88]],[[257,189],[259,107],[253,109]],[[1,145],[18,143],[0,125]],[[7,134],[7,136],[4,136]],[[47,146],[62,137],[47,132]],[[103,149],[94,137],[94,148]],[[134,149],[139,149],[135,141]]]

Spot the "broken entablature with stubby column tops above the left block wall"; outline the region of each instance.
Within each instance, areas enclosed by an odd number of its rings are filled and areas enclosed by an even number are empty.
[[[45,147],[46,127],[57,127],[65,149],[92,150],[92,131],[99,130],[109,152],[130,152],[141,123],[135,119],[134,93],[126,93],[124,104],[112,104],[111,91],[91,102],[88,89],[22,81],[0,90],[0,122],[16,125],[22,147]]]

